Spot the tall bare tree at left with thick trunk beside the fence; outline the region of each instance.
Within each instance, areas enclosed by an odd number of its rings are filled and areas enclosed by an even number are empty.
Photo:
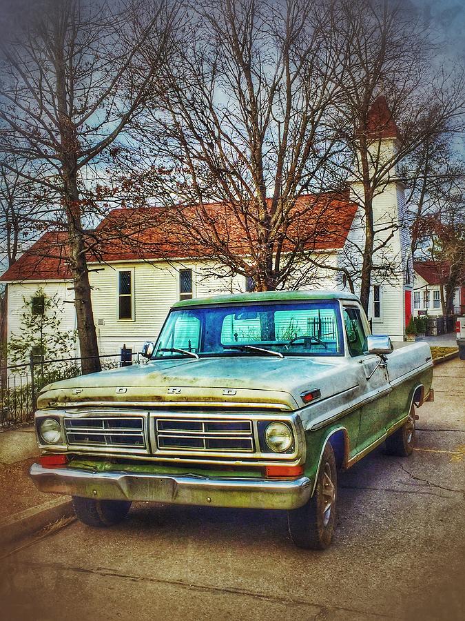
[[[45,188],[46,219],[65,226],[84,372],[100,368],[85,248],[95,202],[86,192],[143,108],[177,12],[165,0],[40,0],[1,44],[0,166]],[[153,55],[141,72],[147,43]],[[12,164],[12,153],[28,166]]]

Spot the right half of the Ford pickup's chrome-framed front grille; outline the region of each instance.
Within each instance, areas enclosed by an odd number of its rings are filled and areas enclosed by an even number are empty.
[[[254,452],[250,420],[157,418],[155,429],[161,451]]]

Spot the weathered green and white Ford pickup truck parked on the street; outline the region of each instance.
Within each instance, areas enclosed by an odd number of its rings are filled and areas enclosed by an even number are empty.
[[[39,395],[32,480],[85,524],[132,501],[276,509],[297,546],[326,548],[338,470],[382,443],[410,455],[433,399],[428,345],[393,351],[347,293],[184,300],[142,353]]]

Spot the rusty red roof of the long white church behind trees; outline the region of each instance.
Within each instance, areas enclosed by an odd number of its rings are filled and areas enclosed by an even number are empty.
[[[332,250],[342,248],[351,228],[357,204],[348,195],[304,195],[291,210],[285,250],[299,242],[302,248]],[[137,259],[200,259],[216,257],[208,236],[218,235],[234,253],[247,254],[254,243],[247,218],[242,212],[221,203],[178,207],[190,226],[180,226],[172,212],[158,207],[118,208],[112,210],[94,231],[86,234],[88,262],[125,262]],[[209,224],[205,222],[205,212]],[[213,228],[215,233],[213,233]],[[38,242],[1,277],[3,282],[21,280],[54,280],[70,278],[66,257],[67,233],[45,233]]]

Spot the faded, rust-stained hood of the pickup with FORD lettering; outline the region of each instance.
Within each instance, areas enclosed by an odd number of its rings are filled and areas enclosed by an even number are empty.
[[[319,388],[324,398],[344,390],[341,364],[343,357],[244,355],[157,360],[54,382],[43,388],[38,406],[150,403],[295,410],[304,405],[300,397],[304,391]],[[337,382],[332,380],[336,374]],[[349,378],[347,382],[349,387]]]

